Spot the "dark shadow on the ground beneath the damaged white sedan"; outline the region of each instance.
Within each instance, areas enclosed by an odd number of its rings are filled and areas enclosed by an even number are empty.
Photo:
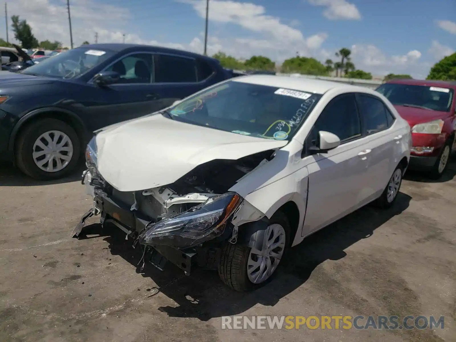
[[[191,275],[186,276],[169,262],[163,271],[146,262],[141,271],[141,246],[137,245],[133,249],[131,240],[125,240],[125,234],[114,226],[112,229],[108,226],[104,228],[109,234],[97,232],[100,225],[91,226],[90,231],[83,231],[83,234],[98,233],[104,236],[111,254],[119,255],[137,266],[137,273],[153,280],[157,285],[155,288],[139,289],[145,290],[146,297],[161,292],[177,303],[177,306],[161,306],[158,308],[160,311],[172,317],[196,317],[207,321],[214,317],[242,313],[257,304],[274,306],[304,284],[319,264],[326,260],[342,259],[347,255],[345,249],[361,239],[371,237],[375,229],[403,212],[409,207],[410,199],[410,196],[400,192],[392,208],[379,210],[368,205],[311,235],[289,250],[272,281],[248,293],[229,289],[219,280],[217,271],[196,268]]]

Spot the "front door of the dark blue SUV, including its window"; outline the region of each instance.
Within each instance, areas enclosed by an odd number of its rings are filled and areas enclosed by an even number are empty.
[[[153,113],[160,98],[155,93],[153,55],[134,52],[111,63],[104,71],[119,73],[119,81],[100,87],[93,82],[94,103],[90,107],[93,129]]]

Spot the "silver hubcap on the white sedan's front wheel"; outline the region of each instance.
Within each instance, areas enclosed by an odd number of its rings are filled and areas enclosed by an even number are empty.
[[[279,265],[285,250],[285,229],[271,224],[264,233],[261,250],[252,248],[247,262],[247,275],[254,284],[267,280]]]

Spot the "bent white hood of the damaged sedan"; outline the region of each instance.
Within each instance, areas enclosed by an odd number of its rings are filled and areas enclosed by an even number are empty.
[[[161,114],[109,126],[95,139],[98,171],[119,191],[161,187],[207,161],[236,160],[287,144],[186,124]]]

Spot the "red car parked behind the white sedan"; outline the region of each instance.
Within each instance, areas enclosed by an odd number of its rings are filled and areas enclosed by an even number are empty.
[[[396,79],[377,91],[394,105],[412,127],[409,169],[438,179],[456,149],[456,82]]]

